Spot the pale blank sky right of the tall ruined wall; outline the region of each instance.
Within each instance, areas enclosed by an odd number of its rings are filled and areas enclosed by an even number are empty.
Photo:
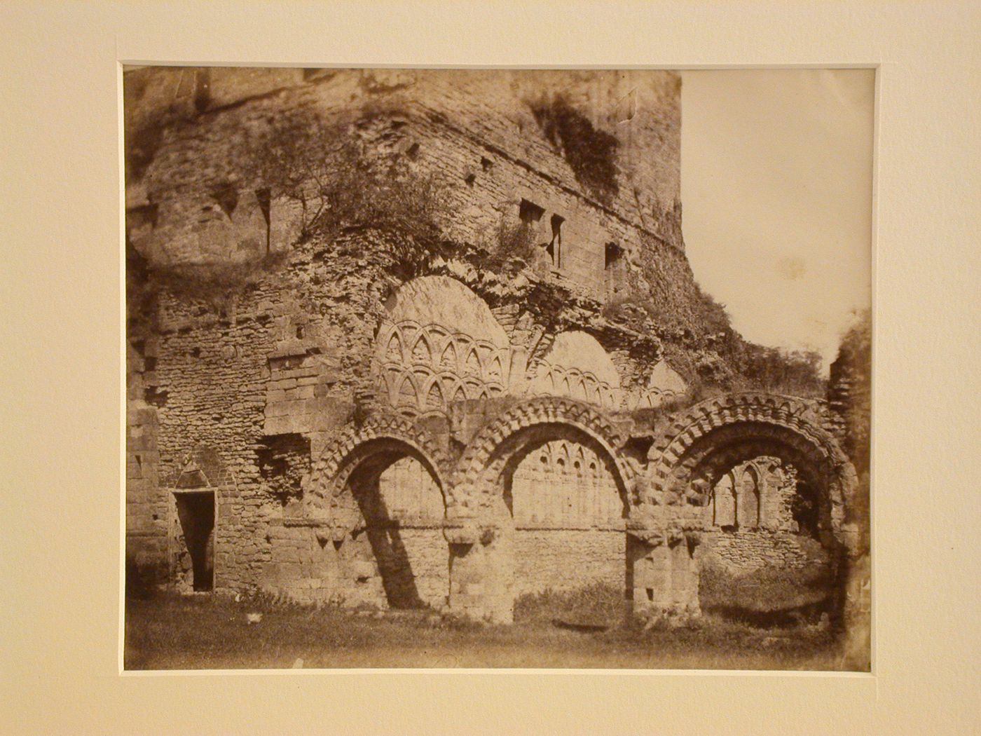
[[[871,70],[682,73],[695,277],[752,342],[834,359],[871,292]]]

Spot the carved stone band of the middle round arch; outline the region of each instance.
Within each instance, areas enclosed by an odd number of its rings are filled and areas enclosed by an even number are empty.
[[[503,412],[485,425],[463,451],[453,473],[458,510],[473,511],[490,505],[490,495],[494,491],[481,484],[480,479],[494,453],[509,438],[543,425],[572,428],[593,441],[608,455],[614,469],[614,479],[622,493],[629,498],[634,471],[619,452],[627,440],[625,434],[589,404],[570,398],[540,396],[522,401]]]

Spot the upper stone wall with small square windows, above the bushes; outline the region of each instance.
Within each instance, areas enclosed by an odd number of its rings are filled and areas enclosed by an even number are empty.
[[[300,70],[145,69],[129,72],[126,86],[128,149],[140,153],[129,167],[128,209],[132,224],[139,220],[138,247],[155,260],[234,259],[267,242],[275,247],[283,213],[274,196],[263,219],[261,183],[241,161],[245,141],[283,111],[313,107],[330,116],[358,105],[375,116],[362,132],[380,150],[450,184],[460,216],[449,237],[484,242],[501,218],[517,221],[527,198],[542,208],[545,231],[552,215],[562,219],[556,270],[597,296],[607,243],[635,260],[648,247],[684,247],[674,222],[680,95],[673,73],[359,70],[304,79]],[[543,134],[531,108],[542,89],[564,90],[597,126],[615,131],[620,185],[611,201],[591,195],[561,146]],[[676,260],[678,275],[691,282],[684,257]]]

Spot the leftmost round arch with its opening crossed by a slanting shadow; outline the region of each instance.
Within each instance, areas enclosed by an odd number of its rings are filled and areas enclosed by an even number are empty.
[[[446,603],[445,468],[439,447],[404,417],[373,417],[326,448],[304,502],[306,516],[329,530],[343,599]]]

